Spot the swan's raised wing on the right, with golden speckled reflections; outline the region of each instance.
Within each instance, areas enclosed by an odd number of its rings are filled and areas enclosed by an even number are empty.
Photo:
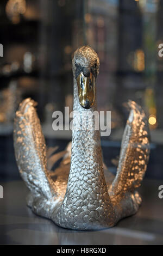
[[[133,192],[141,185],[149,159],[149,133],[145,112],[134,101],[128,101],[129,118],[123,133],[117,174],[110,193]]]

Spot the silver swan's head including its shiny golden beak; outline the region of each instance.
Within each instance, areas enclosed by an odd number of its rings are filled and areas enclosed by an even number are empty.
[[[77,81],[79,103],[83,108],[95,104],[95,83],[99,72],[99,58],[90,46],[79,47],[72,59],[73,76]]]

